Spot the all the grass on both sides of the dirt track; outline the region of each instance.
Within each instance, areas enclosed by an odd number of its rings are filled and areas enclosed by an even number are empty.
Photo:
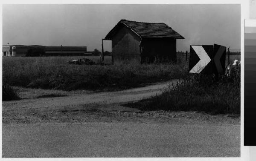
[[[231,72],[233,74],[230,77],[222,77],[216,82],[212,75],[188,74],[188,62],[111,65],[111,57],[105,57],[107,65],[68,64],[69,60],[78,58],[99,61],[99,57],[93,56],[5,57],[3,58],[3,84],[43,89],[112,91],[181,78],[184,80],[182,83],[170,85],[169,90],[162,94],[127,104],[127,106],[144,110],[240,113],[240,66]],[[230,62],[239,58],[240,55],[231,55]],[[9,97],[19,99],[10,86],[5,86],[6,92],[12,93]]]

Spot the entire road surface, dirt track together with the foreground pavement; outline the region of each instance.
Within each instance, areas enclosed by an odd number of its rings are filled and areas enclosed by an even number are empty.
[[[3,102],[3,157],[239,157],[239,118],[122,106],[169,83]]]

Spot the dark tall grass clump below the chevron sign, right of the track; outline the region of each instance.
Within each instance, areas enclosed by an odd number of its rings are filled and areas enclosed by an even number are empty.
[[[196,110],[213,114],[240,113],[240,67],[216,82],[213,75],[189,75],[160,95],[131,106],[143,110]]]

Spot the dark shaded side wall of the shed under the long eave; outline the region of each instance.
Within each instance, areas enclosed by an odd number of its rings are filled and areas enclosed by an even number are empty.
[[[174,38],[143,38],[141,46],[142,62],[176,61],[176,39]]]

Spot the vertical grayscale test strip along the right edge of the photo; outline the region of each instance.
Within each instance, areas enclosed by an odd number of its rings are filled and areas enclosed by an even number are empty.
[[[244,145],[255,146],[256,25],[247,26],[247,21],[244,34]]]

